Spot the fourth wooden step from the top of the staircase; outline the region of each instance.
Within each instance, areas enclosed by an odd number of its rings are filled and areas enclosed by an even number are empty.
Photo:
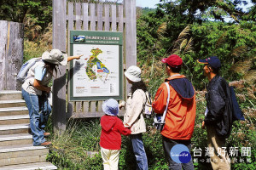
[[[0,116],[0,125],[29,123],[28,115]]]

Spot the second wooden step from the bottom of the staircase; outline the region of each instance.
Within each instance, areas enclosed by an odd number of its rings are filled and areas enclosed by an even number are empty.
[[[0,147],[0,167],[22,163],[42,162],[46,160],[49,148],[19,144]]]

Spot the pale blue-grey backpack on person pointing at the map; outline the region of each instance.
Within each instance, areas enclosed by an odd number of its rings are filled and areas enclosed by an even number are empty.
[[[29,69],[32,67],[32,65],[35,65],[36,62],[40,61],[41,59],[42,59],[41,57],[40,58],[32,58],[32,59],[29,59],[28,61],[26,61],[26,63],[21,66],[16,80],[19,82],[22,82],[22,83],[25,82],[27,72],[29,71]]]

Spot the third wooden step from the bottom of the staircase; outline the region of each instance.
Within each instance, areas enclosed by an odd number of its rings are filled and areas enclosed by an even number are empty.
[[[32,144],[32,134],[20,133],[0,135],[0,146],[16,144]]]

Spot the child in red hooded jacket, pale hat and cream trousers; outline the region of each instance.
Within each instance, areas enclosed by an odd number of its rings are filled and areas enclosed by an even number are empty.
[[[130,135],[131,130],[125,128],[123,122],[117,117],[119,104],[115,99],[108,99],[102,105],[106,115],[101,118],[101,153],[104,170],[118,170],[119,151],[121,149],[121,134]]]

